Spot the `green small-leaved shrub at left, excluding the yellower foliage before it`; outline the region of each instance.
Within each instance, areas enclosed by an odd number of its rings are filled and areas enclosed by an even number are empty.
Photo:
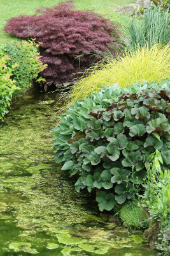
[[[32,80],[38,77],[39,72],[45,69],[45,65],[39,60],[37,52],[38,44],[34,42],[7,42],[1,45],[0,52],[3,55],[8,55],[6,65],[11,68],[15,63],[15,71],[11,74],[11,79],[15,80],[16,86],[19,90],[13,92],[14,95],[23,92],[26,88],[31,86]],[[38,81],[43,80],[39,77]]]

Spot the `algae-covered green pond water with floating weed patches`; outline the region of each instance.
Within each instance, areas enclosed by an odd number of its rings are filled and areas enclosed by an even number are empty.
[[[69,173],[55,164],[55,101],[27,95],[1,124],[0,256],[157,255],[142,232],[100,213],[87,191],[76,193]]]

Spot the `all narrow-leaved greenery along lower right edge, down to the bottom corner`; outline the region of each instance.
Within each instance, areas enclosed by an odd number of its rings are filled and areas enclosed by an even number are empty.
[[[169,141],[168,141],[169,143]],[[169,255],[170,239],[170,172],[162,170],[163,156],[159,150],[153,152],[146,162],[145,193],[141,205],[146,207],[152,221],[159,221],[159,238],[156,247],[159,255]]]

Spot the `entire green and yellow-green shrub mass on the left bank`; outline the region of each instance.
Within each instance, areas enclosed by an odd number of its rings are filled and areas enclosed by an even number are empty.
[[[8,113],[12,96],[18,96],[46,67],[34,42],[8,42],[0,48],[0,120]],[[43,80],[41,77],[37,81]]]

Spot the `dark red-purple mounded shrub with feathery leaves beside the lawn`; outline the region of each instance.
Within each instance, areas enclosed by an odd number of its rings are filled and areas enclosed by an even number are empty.
[[[74,10],[73,1],[42,8],[33,16],[14,17],[4,30],[43,43],[39,51],[48,68],[41,74],[47,83],[55,84],[66,83],[73,79],[73,72],[81,72],[92,63],[89,53],[110,49],[116,56],[120,38],[117,24],[94,12]],[[74,58],[78,54],[85,54],[80,61]]]

